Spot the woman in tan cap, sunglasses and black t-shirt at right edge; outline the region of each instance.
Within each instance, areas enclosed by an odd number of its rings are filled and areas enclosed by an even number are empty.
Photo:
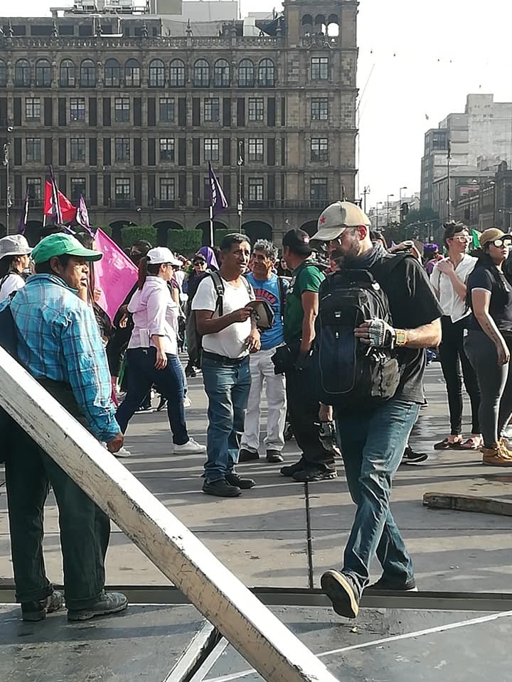
[[[512,286],[503,275],[511,244],[511,234],[496,227],[486,229],[480,237],[481,256],[467,285],[473,315],[464,350],[480,387],[483,463],[498,467],[512,467],[512,452],[501,438],[512,414]]]

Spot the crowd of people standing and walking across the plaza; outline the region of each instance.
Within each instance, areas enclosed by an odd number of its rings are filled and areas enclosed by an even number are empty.
[[[128,251],[138,281],[109,320],[94,277],[102,254],[87,235],[56,231],[33,249],[13,235],[0,239],[0,310],[10,308],[19,362],[113,455],[129,455],[124,433],[134,413],[152,410],[152,391],[167,409],[169,453],[206,453],[205,494],[238,497],[254,487],[238,463],[262,451],[266,462],[284,463],[289,433],[300,453],[280,468],[290,480],[332,480],[341,455],[357,510],[343,567],[326,571],[321,585],[334,610],[353,618],[363,590],[416,589],[390,492],[402,462],[427,458],[412,452],[409,438],[426,404],[431,357],[441,363],[449,415],[449,434],[434,448],[481,450],[485,465],[512,466],[512,236],[488,229],[469,254],[471,239],[464,224],[451,222],[444,256],[415,241],[388,247],[360,207],[339,201],[321,213],[316,234],[290,229],[280,249],[233,233],[217,250],[202,247],[186,259],[139,241]],[[187,380],[199,372],[208,399],[206,447],[186,424]],[[467,438],[463,382],[471,404]],[[43,563],[50,485],[68,618],[124,609],[124,595],[105,592],[107,516],[16,427],[6,448],[6,487],[23,619],[63,606]],[[369,585],[374,555],[383,573]]]

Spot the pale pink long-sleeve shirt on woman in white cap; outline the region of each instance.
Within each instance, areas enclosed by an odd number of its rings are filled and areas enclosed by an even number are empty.
[[[156,335],[164,337],[166,353],[178,354],[178,305],[173,301],[166,281],[155,275],[147,276],[142,289],[137,289],[132,296],[128,310],[134,321],[129,348],[155,347],[151,336]]]

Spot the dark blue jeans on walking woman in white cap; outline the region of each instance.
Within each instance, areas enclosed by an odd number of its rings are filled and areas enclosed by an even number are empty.
[[[158,384],[167,399],[167,416],[173,434],[173,443],[188,443],[188,433],[183,407],[183,373],[176,355],[167,354],[165,369],[155,369],[156,348],[129,348],[127,350],[127,395],[117,410],[116,419],[123,433],[128,422],[139,409],[144,396],[153,384]]]

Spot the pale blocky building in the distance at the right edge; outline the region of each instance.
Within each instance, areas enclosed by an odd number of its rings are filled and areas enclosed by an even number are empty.
[[[485,178],[486,171],[495,172],[501,161],[511,160],[512,103],[494,102],[492,94],[469,94],[464,114],[449,114],[438,128],[425,133],[421,205],[447,217],[448,207],[439,205],[439,190],[434,190],[434,185],[450,175],[453,201],[459,171],[462,176],[482,173]]]

